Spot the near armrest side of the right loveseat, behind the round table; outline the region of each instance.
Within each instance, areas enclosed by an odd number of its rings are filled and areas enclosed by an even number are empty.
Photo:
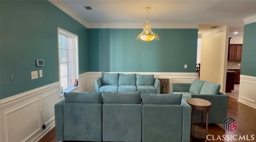
[[[196,95],[192,98],[208,100],[212,103],[210,107],[209,123],[220,124],[227,118],[228,113],[228,95]]]

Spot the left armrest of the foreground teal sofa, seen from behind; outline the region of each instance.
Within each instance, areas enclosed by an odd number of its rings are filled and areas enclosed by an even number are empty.
[[[64,140],[63,135],[63,104],[65,99],[54,105],[56,140]]]

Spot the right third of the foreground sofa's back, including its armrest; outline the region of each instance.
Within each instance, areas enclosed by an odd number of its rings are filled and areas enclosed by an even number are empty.
[[[142,95],[142,142],[190,142],[191,106],[182,94]]]

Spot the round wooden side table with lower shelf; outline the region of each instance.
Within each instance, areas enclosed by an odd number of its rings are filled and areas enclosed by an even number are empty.
[[[186,102],[192,108],[192,112],[191,112],[191,135],[195,138],[206,138],[206,136],[208,134],[209,111],[210,111],[210,106],[212,105],[212,103],[210,101],[205,100],[205,99],[199,99],[199,98],[189,98],[189,99],[186,100]],[[199,126],[196,126],[196,125],[193,126],[194,110],[201,111],[201,128]],[[205,128],[205,131],[203,129],[204,111],[206,111],[206,128]],[[196,131],[195,131],[195,129],[196,129]]]

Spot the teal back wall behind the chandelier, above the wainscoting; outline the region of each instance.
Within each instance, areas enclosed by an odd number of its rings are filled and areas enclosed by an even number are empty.
[[[88,29],[89,70],[196,72],[198,29],[152,30],[160,39],[147,43],[135,40],[142,29]]]

